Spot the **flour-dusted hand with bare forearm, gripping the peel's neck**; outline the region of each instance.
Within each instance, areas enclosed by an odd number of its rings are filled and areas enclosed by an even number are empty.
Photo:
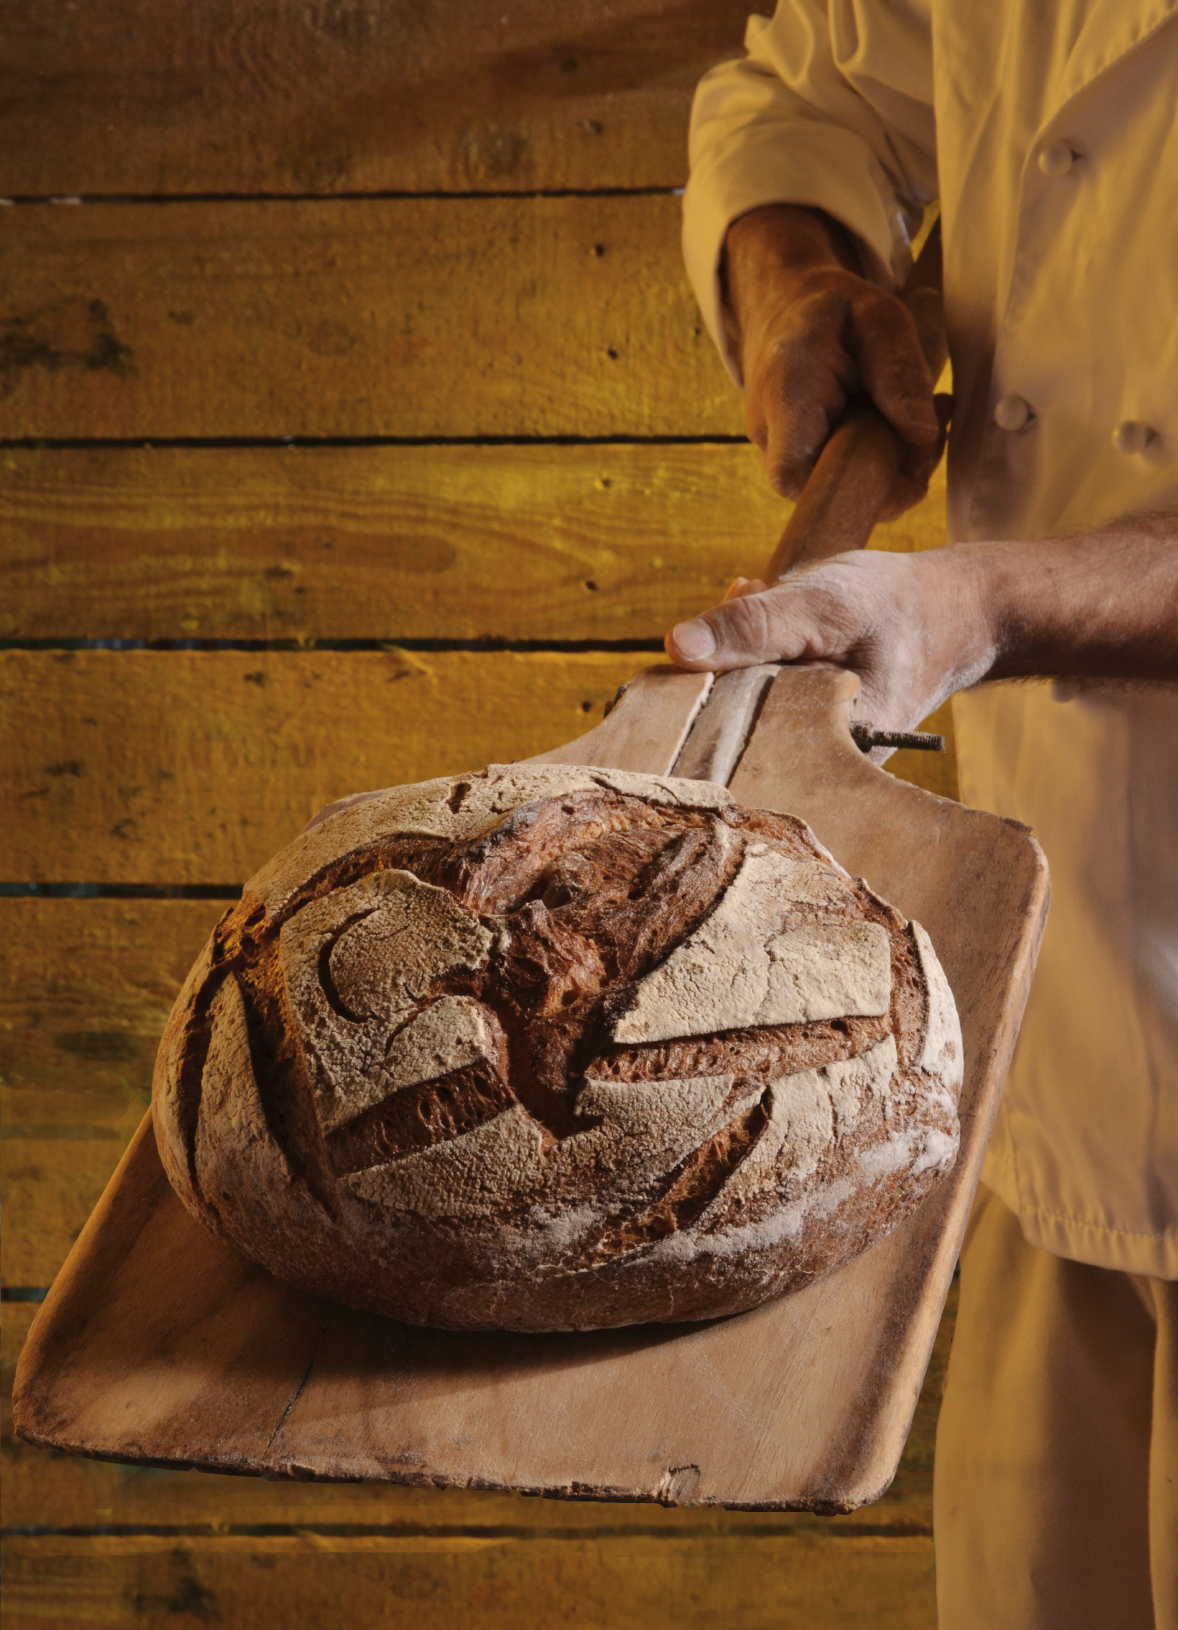
[[[679,623],[683,668],[826,662],[862,681],[862,712],[908,730],[984,678],[1178,680],[1178,517],[1131,517],[1079,538],[865,549],[740,580]]]

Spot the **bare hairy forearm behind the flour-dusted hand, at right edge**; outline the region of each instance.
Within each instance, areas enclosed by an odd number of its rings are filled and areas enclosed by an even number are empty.
[[[1176,517],[938,554],[925,562],[942,592],[978,605],[989,678],[1178,678]]]

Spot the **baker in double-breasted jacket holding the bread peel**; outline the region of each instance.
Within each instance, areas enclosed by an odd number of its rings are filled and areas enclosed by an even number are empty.
[[[741,580],[668,650],[839,663],[886,729],[960,693],[963,797],[1044,844],[937,1436],[940,1622],[1175,1627],[1178,13],[780,0],[746,47],[696,96],[684,249],[748,434],[795,497],[865,390],[912,447],[893,513],[919,499],[943,414],[893,290],[938,199],[950,546]]]

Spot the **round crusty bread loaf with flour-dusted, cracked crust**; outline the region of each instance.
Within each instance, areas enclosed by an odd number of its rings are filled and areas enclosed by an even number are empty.
[[[492,766],[344,807],[171,1015],[184,1205],[321,1296],[450,1328],[707,1319],[937,1187],[961,1032],[929,936],[707,782]]]

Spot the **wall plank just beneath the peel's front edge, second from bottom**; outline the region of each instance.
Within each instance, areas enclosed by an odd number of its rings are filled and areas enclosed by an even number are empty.
[[[600,1506],[580,1501],[528,1500],[476,1490],[406,1488],[389,1483],[303,1483],[163,1472],[104,1465],[98,1460],[51,1456],[11,1436],[11,1379],[36,1307],[5,1302],[3,1333],[3,1464],[7,1527],[156,1526],[194,1531],[243,1531],[261,1524],[298,1527],[355,1526],[414,1534],[515,1534],[593,1537],[603,1531],[635,1535],[748,1535],[777,1532],[839,1534],[847,1529],[901,1529],[925,1534],[932,1519],[932,1449],[940,1394],[953,1335],[956,1293],[942,1319],[932,1364],[896,1482],[873,1506],[844,1518],[810,1513],[766,1514],[653,1504]]]

